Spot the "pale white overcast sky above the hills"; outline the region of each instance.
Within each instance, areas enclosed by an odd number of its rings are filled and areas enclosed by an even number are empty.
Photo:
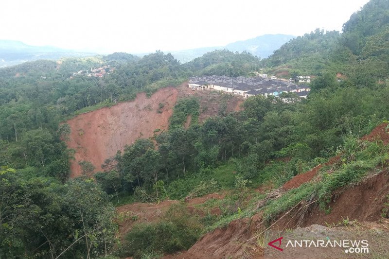
[[[0,39],[90,52],[223,46],[264,34],[341,31],[368,0],[3,0]]]

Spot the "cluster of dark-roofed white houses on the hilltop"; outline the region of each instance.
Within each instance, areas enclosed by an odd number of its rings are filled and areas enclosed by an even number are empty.
[[[255,95],[278,96],[281,93],[295,92],[306,98],[311,88],[295,85],[289,81],[256,77],[203,76],[190,77],[188,87],[192,90],[217,90],[248,98]]]

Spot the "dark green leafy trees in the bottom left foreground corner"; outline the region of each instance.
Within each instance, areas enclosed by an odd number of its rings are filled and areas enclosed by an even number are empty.
[[[0,196],[1,258],[98,257],[113,247],[115,210],[92,180],[61,185],[4,168]]]

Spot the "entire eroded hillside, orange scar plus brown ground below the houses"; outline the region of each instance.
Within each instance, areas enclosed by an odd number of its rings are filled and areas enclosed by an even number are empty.
[[[101,171],[104,161],[123,150],[125,145],[167,130],[177,99],[193,96],[200,104],[200,122],[211,116],[238,111],[243,103],[243,99],[233,95],[192,91],[185,82],[177,87],[159,89],[150,98],[142,92],[133,101],[76,116],[68,121],[71,136],[67,145],[75,150],[71,177],[83,174],[80,162],[90,162],[95,168],[93,172]]]

